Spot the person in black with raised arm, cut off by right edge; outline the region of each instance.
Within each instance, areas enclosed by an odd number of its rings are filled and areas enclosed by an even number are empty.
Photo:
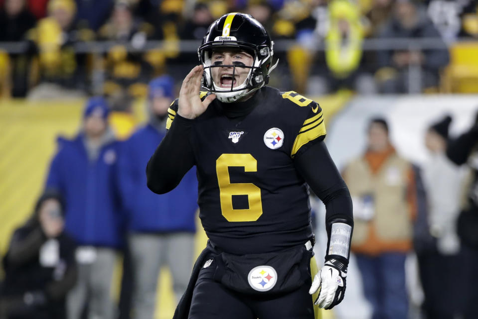
[[[447,155],[455,164],[469,168],[458,217],[458,234],[463,244],[463,257],[458,262],[463,268],[455,268],[452,276],[459,272],[461,278],[466,278],[460,281],[465,288],[458,298],[464,301],[462,318],[474,319],[478,318],[478,114],[467,132],[448,143]]]

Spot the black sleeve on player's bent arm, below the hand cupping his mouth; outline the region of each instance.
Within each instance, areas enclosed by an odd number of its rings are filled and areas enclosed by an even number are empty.
[[[148,161],[148,188],[156,194],[172,191],[194,165],[194,154],[189,142],[193,122],[176,114],[169,131]]]

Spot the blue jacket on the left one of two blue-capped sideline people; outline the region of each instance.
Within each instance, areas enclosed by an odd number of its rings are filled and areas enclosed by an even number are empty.
[[[124,219],[117,187],[120,142],[107,142],[90,161],[84,138],[83,133],[73,140],[58,138],[46,188],[65,199],[65,228],[78,245],[118,248]]]

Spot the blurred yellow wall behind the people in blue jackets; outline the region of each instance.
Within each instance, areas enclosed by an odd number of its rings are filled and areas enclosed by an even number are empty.
[[[345,105],[349,94],[339,94],[315,99],[322,106],[326,120]],[[0,102],[0,255],[6,252],[13,230],[32,212],[37,197],[42,192],[51,157],[56,151],[56,137],[73,137],[80,128],[82,107],[85,101],[29,102],[11,100]],[[145,102],[134,105],[132,120],[119,122],[144,122]],[[124,130],[120,132],[125,136]],[[199,221],[198,221],[199,222]],[[206,243],[206,235],[198,224],[196,256]],[[119,295],[121,263],[115,270],[112,294]],[[170,274],[163,269],[159,275],[156,319],[171,318],[174,313]],[[325,316],[326,317],[326,316]]]

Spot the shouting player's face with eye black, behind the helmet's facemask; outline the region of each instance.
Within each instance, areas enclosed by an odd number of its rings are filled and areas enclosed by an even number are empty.
[[[249,53],[233,49],[224,49],[212,52],[212,65],[236,65],[233,77],[233,67],[211,68],[212,80],[220,88],[230,89],[240,86],[246,81],[250,68],[240,66],[252,66],[254,58]]]

